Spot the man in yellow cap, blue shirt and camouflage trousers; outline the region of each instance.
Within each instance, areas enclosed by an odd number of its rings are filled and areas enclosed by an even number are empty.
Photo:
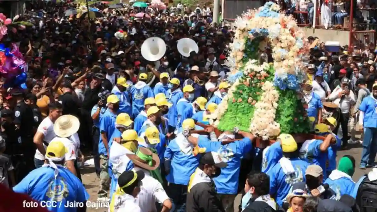
[[[100,154],[100,189],[98,190],[98,201],[109,201],[107,192],[110,187],[109,177],[109,139],[115,131],[116,116],[119,113],[119,99],[115,94],[107,97],[107,111],[100,118],[100,142],[98,144],[98,153]],[[110,143],[111,144],[111,143]]]

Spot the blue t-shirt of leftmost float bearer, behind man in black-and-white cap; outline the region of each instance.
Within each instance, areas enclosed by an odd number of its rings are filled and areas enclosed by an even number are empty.
[[[170,183],[188,185],[190,176],[199,165],[199,155],[194,156],[192,152],[184,154],[179,149],[176,139],[170,141],[165,150],[165,160],[170,160],[170,173],[166,180]]]

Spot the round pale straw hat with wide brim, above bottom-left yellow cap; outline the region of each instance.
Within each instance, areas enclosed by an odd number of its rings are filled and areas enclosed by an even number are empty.
[[[54,123],[54,133],[58,137],[67,138],[80,128],[80,121],[74,115],[62,115]]]

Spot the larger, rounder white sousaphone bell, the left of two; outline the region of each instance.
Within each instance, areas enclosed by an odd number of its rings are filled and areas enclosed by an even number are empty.
[[[141,55],[148,61],[161,59],[166,52],[165,41],[159,37],[150,37],[141,45]]]

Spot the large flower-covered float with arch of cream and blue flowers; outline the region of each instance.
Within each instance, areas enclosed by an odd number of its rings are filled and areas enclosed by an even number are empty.
[[[279,11],[279,5],[267,2],[237,18],[228,59],[232,86],[210,122],[219,131],[238,126],[263,140],[310,131],[300,95],[308,43],[294,17]],[[267,48],[273,63],[266,62]]]

